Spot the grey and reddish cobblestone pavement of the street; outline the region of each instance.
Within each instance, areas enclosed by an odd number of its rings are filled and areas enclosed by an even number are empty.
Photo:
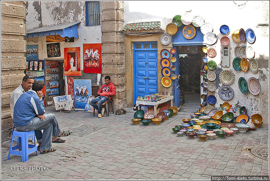
[[[173,133],[175,125],[196,112],[199,102],[192,101],[192,96],[185,95],[185,103],[176,116],[148,126],[131,122],[133,110],[98,118],[92,113],[60,113],[47,107],[46,113],[54,113],[63,130],[81,125],[102,129],[83,137],[71,134],[65,137],[65,143],[52,143],[57,151],[38,156],[32,153],[27,162],[16,155],[7,160],[8,148],[2,145],[1,179],[211,179],[211,175],[268,175],[268,161],[249,151],[254,146],[268,145],[268,125],[205,141]],[[41,166],[48,170],[28,169]],[[11,171],[10,167],[26,170]]]

